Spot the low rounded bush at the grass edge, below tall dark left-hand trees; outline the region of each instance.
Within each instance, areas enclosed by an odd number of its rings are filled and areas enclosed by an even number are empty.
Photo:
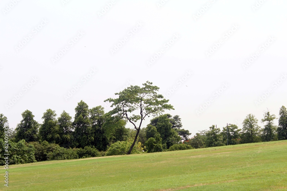
[[[70,160],[79,158],[74,149],[65,149],[59,145],[55,146],[53,149],[54,150],[50,151],[47,155],[48,160]]]

